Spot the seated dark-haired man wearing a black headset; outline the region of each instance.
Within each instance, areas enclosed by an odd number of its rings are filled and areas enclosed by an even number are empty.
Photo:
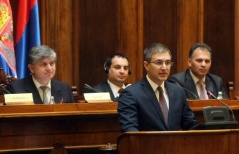
[[[106,59],[104,70],[108,75],[107,81],[99,83],[93,88],[99,92],[109,92],[111,100],[117,102],[119,93],[127,86],[125,82],[128,75],[131,74],[128,58],[122,53],[114,53]]]

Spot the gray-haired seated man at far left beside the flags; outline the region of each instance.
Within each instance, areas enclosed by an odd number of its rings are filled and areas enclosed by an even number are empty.
[[[11,82],[6,89],[11,93],[32,93],[35,104],[48,104],[54,96],[55,103],[74,102],[68,84],[53,80],[57,55],[48,46],[33,47],[28,54],[31,75]]]

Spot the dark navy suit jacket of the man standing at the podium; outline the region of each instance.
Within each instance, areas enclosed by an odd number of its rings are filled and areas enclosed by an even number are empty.
[[[165,82],[165,88],[169,96],[168,125],[155,92],[145,77],[120,94],[118,114],[121,131],[173,131],[199,127],[183,88],[169,82]]]

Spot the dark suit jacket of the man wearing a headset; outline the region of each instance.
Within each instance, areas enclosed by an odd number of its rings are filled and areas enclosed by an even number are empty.
[[[98,90],[99,92],[109,92],[111,100],[113,102],[118,102],[118,98],[114,96],[113,91],[111,90],[110,85],[108,84],[107,81],[101,82],[97,84],[96,86],[94,86],[93,88]],[[94,92],[94,91],[89,90],[87,92]]]

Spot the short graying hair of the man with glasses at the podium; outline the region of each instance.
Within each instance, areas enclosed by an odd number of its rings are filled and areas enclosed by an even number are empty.
[[[168,52],[172,58],[171,52],[165,45],[161,43],[152,43],[144,50],[144,61],[150,62],[152,55],[155,53]]]

